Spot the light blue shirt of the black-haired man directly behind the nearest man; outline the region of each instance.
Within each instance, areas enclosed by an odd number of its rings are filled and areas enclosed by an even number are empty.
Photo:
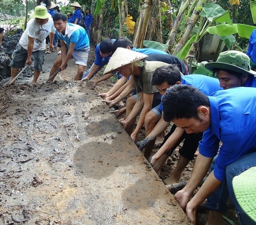
[[[182,76],[182,85],[190,85],[196,89],[199,89],[205,95],[211,95],[215,91],[223,90],[219,86],[219,80],[207,75],[191,74]],[[161,102],[160,110],[163,111],[163,105]]]

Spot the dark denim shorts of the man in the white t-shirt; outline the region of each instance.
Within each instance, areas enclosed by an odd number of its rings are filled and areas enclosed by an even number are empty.
[[[36,71],[42,71],[44,62],[44,50],[38,50],[32,52],[34,57],[34,67]],[[12,54],[12,61],[10,62],[11,67],[21,68],[25,66],[27,61],[27,50],[24,49],[20,44],[16,45],[16,49]]]

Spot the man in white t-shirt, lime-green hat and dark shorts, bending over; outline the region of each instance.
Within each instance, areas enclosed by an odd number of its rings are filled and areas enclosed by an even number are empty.
[[[10,62],[12,67],[11,80],[16,77],[19,68],[24,67],[25,64],[32,64],[33,55],[35,69],[32,83],[37,83],[44,61],[45,39],[49,35],[50,49],[54,49],[55,28],[51,15],[43,5],[35,7],[35,12],[30,15],[30,18],[29,22],[27,22],[27,28],[12,55],[12,61]]]

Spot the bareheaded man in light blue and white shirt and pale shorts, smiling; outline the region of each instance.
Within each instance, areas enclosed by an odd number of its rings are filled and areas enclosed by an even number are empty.
[[[74,80],[81,80],[85,67],[87,66],[90,42],[85,29],[77,24],[69,23],[67,19],[67,16],[63,13],[55,13],[53,16],[54,27],[57,30],[56,35],[62,47],[57,59],[54,61],[50,77],[58,69],[63,71],[72,55],[78,65]]]

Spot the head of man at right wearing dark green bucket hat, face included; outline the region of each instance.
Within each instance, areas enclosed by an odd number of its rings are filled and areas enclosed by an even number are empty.
[[[249,76],[256,75],[251,71],[250,58],[237,50],[221,52],[216,62],[207,63],[205,67],[218,77],[223,89],[244,86]]]

